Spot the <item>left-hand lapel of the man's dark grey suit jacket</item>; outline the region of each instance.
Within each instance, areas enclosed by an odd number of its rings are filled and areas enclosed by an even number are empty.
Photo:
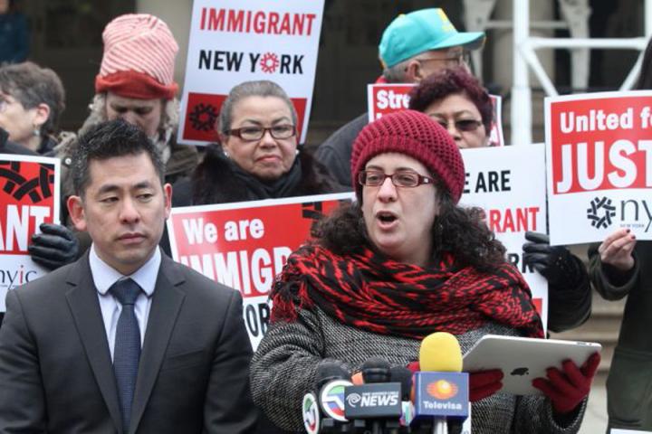
[[[109,343],[101,316],[97,290],[91,277],[88,253],[77,261],[66,279],[71,288],[66,292],[68,306],[82,339],[86,357],[91,364],[95,381],[109,409],[110,417],[119,432],[122,431],[120,404],[116,388]]]

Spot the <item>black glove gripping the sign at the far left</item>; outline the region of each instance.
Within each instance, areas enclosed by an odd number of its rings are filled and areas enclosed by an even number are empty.
[[[77,259],[79,241],[70,229],[53,223],[42,223],[39,228],[41,233],[32,235],[27,248],[34,262],[53,270]]]

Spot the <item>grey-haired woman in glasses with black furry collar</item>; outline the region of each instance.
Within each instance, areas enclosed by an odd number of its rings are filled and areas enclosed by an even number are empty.
[[[297,146],[297,114],[273,81],[245,81],[225,99],[221,144],[208,147],[191,179],[175,184],[174,206],[333,193],[325,167]]]

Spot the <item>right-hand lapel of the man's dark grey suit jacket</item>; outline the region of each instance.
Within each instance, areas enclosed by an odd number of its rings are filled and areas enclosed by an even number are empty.
[[[176,288],[184,281],[185,278],[177,270],[177,264],[163,254],[158,269],[156,289],[152,296],[152,306],[149,310],[145,341],[140,353],[129,432],[136,432],[140,418],[147,407],[149,395],[154,388],[170,336],[177,323],[177,315],[186,297],[182,290]]]

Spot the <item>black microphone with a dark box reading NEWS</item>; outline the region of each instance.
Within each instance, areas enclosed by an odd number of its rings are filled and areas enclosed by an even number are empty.
[[[370,421],[372,434],[398,432],[402,413],[401,383],[391,380],[389,363],[378,357],[362,364],[364,384],[346,389],[345,414],[354,428],[364,429]]]

